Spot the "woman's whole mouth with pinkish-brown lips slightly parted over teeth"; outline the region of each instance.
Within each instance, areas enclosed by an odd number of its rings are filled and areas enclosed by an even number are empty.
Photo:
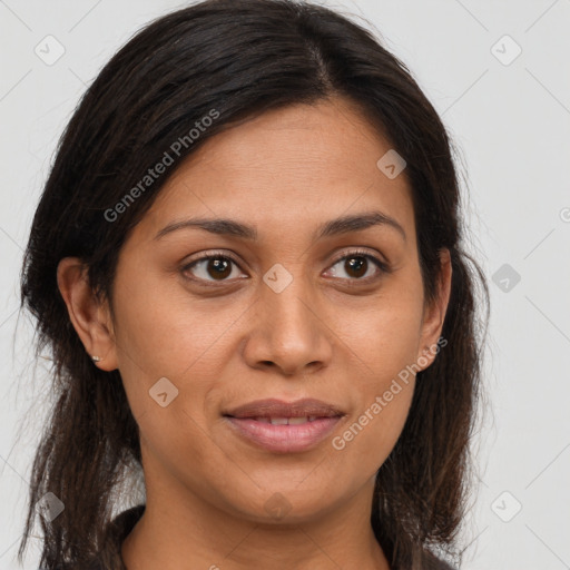
[[[223,414],[237,436],[275,453],[315,448],[345,415],[337,406],[314,399],[262,400]]]

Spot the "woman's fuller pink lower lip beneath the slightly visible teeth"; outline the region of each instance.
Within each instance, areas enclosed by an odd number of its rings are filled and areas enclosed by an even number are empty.
[[[248,441],[268,451],[295,453],[321,443],[335,428],[341,416],[317,417],[297,425],[273,425],[252,417],[225,416],[229,424]]]

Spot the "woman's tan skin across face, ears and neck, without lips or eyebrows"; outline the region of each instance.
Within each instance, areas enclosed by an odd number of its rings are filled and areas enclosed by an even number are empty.
[[[119,368],[140,429],[147,508],[122,544],[129,570],[390,568],[370,525],[372,492],[413,375],[343,450],[332,439],[406,365],[433,362],[426,348],[451,284],[444,252],[439,296],[424,303],[405,170],[390,179],[376,166],[390,148],[344,99],[266,112],[209,139],[167,181],[120,252],[114,314],[79,261],[61,261],[71,322],[101,356],[94,365]],[[405,239],[387,225],[313,237],[330,219],[371,210],[395,218]],[[193,216],[253,225],[257,239],[199,228],[155,239]],[[351,269],[342,257],[355,248],[392,271],[371,259]],[[185,269],[217,250],[238,264],[222,278],[207,262]],[[263,281],[276,263],[293,277],[281,293]],[[166,407],[149,396],[161,377],[178,390]],[[316,397],[346,415],[316,448],[274,453],[220,415],[265,397]],[[272,501],[284,518],[266,509]]]

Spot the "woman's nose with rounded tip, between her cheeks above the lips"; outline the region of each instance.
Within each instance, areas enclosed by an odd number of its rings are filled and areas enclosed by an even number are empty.
[[[316,372],[333,355],[334,335],[326,316],[301,276],[282,291],[261,284],[252,307],[243,356],[253,368],[275,367],[285,376]]]

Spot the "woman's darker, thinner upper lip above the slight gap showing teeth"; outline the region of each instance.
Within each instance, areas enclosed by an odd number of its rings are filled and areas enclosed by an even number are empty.
[[[344,415],[344,412],[340,407],[321,400],[304,397],[294,402],[276,399],[256,400],[234,407],[224,415],[232,417],[304,417],[309,415],[333,417]]]

